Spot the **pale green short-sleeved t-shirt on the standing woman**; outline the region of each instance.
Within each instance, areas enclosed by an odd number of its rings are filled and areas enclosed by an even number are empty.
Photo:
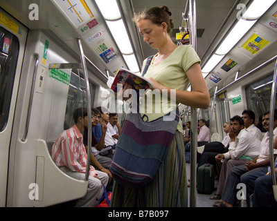
[[[157,56],[157,55],[155,55]],[[200,59],[195,52],[193,46],[178,46],[170,56],[163,60],[158,66],[154,66],[153,59],[144,77],[152,77],[159,84],[175,88],[177,90],[186,90],[189,81],[186,75],[186,71],[193,64],[200,62]],[[143,68],[145,66],[146,59],[143,61]],[[175,98],[175,96],[173,96]],[[171,99],[172,100],[172,99]],[[144,105],[143,105],[144,104]],[[139,111],[141,116],[144,114],[148,116],[148,121],[151,122],[154,119],[162,117],[175,110],[178,103],[172,100],[170,104],[170,98],[161,94],[156,90],[148,90],[145,96],[141,99]],[[177,130],[182,132],[181,120],[177,126]]]

